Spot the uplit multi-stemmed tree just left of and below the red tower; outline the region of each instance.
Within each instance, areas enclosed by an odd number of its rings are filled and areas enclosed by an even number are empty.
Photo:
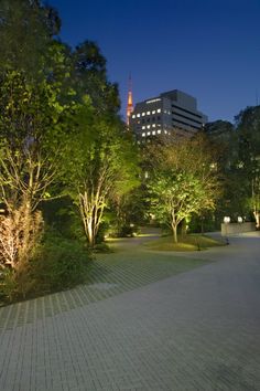
[[[78,208],[93,247],[109,200],[137,186],[137,152],[115,116],[97,117],[88,101],[79,107],[77,128],[64,163],[64,183]]]

